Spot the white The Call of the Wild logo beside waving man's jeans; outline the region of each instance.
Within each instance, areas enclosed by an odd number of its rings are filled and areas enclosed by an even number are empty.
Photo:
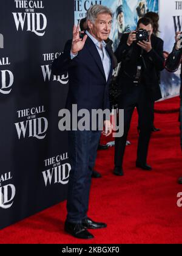
[[[45,187],[48,185],[60,183],[66,185],[69,182],[69,174],[71,171],[70,163],[62,163],[68,160],[67,152],[50,157],[44,160],[46,171],[42,171]]]

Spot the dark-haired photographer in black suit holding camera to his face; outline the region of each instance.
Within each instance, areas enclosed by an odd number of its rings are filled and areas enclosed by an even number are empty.
[[[121,69],[118,83],[121,86],[120,108],[124,109],[124,135],[115,139],[115,169],[113,173],[123,176],[123,156],[132,113],[138,110],[140,136],[136,167],[145,170],[147,151],[153,123],[153,102],[161,98],[158,71],[164,68],[163,40],[152,35],[152,21],[141,18],[138,29],[149,32],[149,41],[136,41],[136,31],[124,34],[115,55]]]

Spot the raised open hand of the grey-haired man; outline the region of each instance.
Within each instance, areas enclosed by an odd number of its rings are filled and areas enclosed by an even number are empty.
[[[81,51],[86,43],[87,35],[84,35],[84,38],[79,38],[79,26],[73,27],[73,40],[72,40],[72,54],[76,55]]]

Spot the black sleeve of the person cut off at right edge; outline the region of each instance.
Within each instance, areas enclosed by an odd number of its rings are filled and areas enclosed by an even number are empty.
[[[165,68],[167,69],[167,71],[170,71],[170,72],[177,71],[180,66],[181,59],[182,59],[181,51],[177,51],[174,46],[172,52],[169,54],[169,56],[166,59]]]

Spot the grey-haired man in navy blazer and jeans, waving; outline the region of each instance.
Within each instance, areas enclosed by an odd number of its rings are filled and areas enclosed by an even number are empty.
[[[69,73],[67,108],[73,104],[78,110],[109,109],[108,87],[112,77],[112,55],[104,40],[112,26],[112,12],[102,5],[93,5],[87,12],[89,29],[83,39],[79,27],[73,29],[73,40],[68,41],[63,54],[52,64],[53,74]],[[109,118],[104,121],[106,136],[112,133]],[[99,130],[69,131],[69,158],[72,165],[67,196],[67,219],[64,229],[76,238],[89,239],[87,229],[106,227],[88,218],[89,191],[92,169],[101,132]]]

